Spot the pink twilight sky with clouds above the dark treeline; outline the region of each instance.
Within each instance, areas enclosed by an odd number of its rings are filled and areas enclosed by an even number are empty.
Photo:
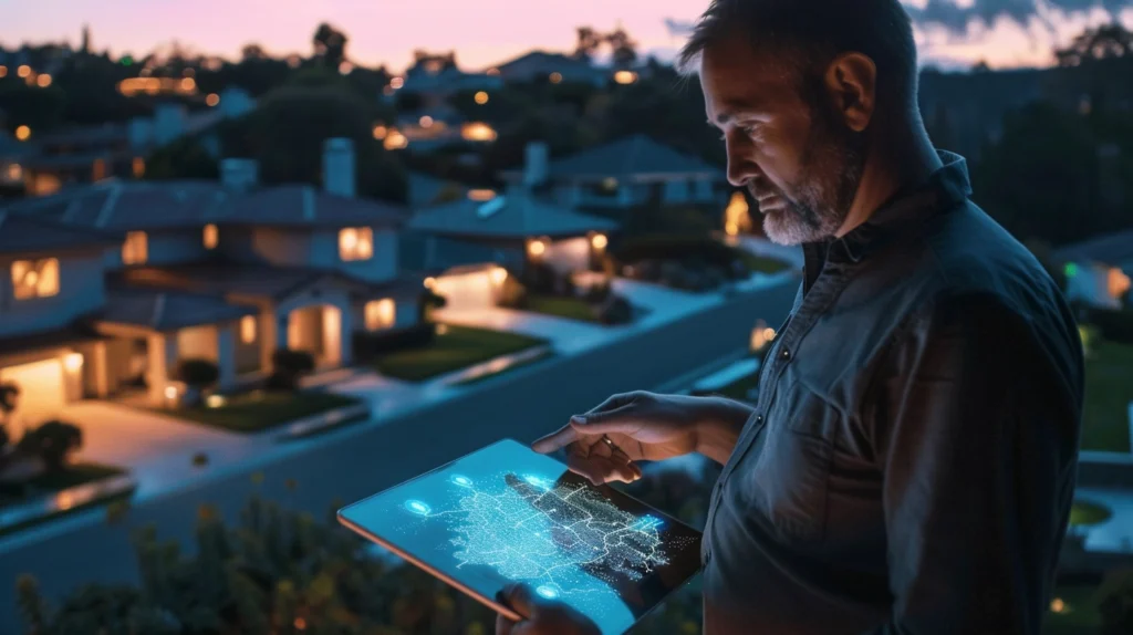
[[[1133,27],[1133,0],[903,0],[918,20],[923,60],[964,66],[1045,65],[1054,44],[1110,16]],[[237,58],[250,42],[308,53],[320,22],[350,37],[351,60],[403,69],[415,49],[455,50],[465,68],[533,48],[570,49],[574,27],[619,22],[642,50],[668,58],[680,24],[707,0],[0,0],[0,45],[77,44],[84,24],[96,50],[145,53],[173,40]],[[666,25],[666,20],[670,24]],[[676,24],[673,24],[676,23]]]

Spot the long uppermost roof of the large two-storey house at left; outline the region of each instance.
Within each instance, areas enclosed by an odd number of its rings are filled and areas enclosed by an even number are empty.
[[[118,231],[216,224],[400,225],[393,204],[327,194],[306,185],[240,192],[216,181],[108,181],[9,206],[59,223]]]

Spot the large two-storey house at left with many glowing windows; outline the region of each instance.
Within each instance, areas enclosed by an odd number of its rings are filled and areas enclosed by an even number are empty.
[[[278,349],[348,366],[356,333],[418,324],[423,280],[398,267],[406,213],[355,198],[352,161],[330,139],[325,189],[258,187],[254,162],[228,160],[221,182],[111,180],[0,211],[0,380],[36,406],[157,404],[185,359],[232,389]]]

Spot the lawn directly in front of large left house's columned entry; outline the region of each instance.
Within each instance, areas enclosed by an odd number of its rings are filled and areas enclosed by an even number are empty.
[[[159,411],[233,432],[258,432],[297,419],[360,403],[334,393],[263,392],[229,396],[220,407],[186,407]]]

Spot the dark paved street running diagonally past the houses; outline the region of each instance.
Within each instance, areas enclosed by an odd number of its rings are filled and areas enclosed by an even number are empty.
[[[237,465],[210,467],[178,490],[138,496],[116,525],[104,521],[104,512],[92,510],[16,534],[0,541],[0,584],[27,572],[57,597],[83,582],[136,582],[130,532],[152,524],[163,539],[189,543],[201,504],[235,518],[249,495],[261,494],[323,517],[334,500],[363,498],[494,440],[530,441],[611,393],[659,386],[733,353],[756,320],[783,319],[795,289],[796,282],[784,281],[655,331],[505,374],[476,391],[450,388],[431,403],[278,444]],[[255,472],[264,475],[259,484],[249,478]],[[17,628],[12,595],[0,589],[0,633]]]

